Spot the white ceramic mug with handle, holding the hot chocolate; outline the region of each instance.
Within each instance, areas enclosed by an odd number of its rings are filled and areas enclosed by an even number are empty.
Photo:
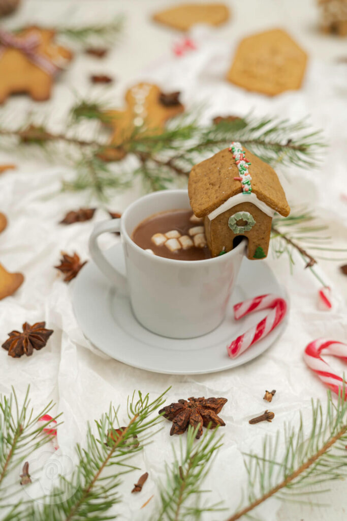
[[[146,252],[131,239],[146,217],[165,210],[190,208],[187,190],[164,190],[141,197],[121,219],[99,222],[89,240],[91,256],[102,273],[130,296],[137,320],[170,338],[199,337],[222,322],[246,250],[243,240],[231,252],[203,261],[177,261]],[[126,277],[100,251],[101,233],[120,231]]]

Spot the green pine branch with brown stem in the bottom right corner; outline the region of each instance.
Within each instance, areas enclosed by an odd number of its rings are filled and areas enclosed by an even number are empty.
[[[344,392],[343,387],[335,405],[328,391],[325,413],[320,402],[314,403],[312,400],[309,438],[305,440],[300,414],[299,427],[285,429],[285,451],[280,460],[278,433],[274,444],[270,436],[265,438],[262,455],[245,454],[249,504],[226,521],[240,519],[271,497],[289,500],[298,493],[313,493],[312,490],[305,490],[307,487],[316,487],[317,490],[317,486],[325,481],[346,477],[347,455],[344,447],[347,441],[347,404],[343,399]],[[288,490],[286,495],[278,494],[284,490]]]

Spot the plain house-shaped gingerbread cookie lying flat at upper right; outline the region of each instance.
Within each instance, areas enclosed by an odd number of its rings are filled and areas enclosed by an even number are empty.
[[[274,96],[300,89],[307,55],[286,31],[273,29],[241,40],[227,79],[249,91]]]

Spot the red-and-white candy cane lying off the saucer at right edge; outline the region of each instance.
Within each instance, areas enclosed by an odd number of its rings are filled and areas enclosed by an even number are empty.
[[[347,344],[335,340],[327,340],[326,338],[318,338],[310,342],[304,352],[306,365],[316,373],[327,387],[339,394],[344,380],[333,372],[329,364],[323,360],[320,356],[322,351],[327,355],[337,356],[347,362]],[[347,399],[347,390],[345,391],[344,399]]]

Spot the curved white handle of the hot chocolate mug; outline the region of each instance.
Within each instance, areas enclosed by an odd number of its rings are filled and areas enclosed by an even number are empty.
[[[89,253],[99,270],[111,280],[122,294],[126,295],[128,293],[126,277],[112,266],[98,245],[98,237],[102,233],[120,231],[120,222],[120,219],[97,222],[89,238]]]

